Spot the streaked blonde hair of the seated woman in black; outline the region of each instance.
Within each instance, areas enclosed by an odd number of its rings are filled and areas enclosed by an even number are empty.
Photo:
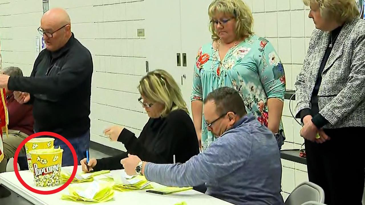
[[[181,90],[174,78],[165,70],[154,70],[139,81],[138,90],[147,100],[164,104],[161,117],[182,109],[189,113]]]

